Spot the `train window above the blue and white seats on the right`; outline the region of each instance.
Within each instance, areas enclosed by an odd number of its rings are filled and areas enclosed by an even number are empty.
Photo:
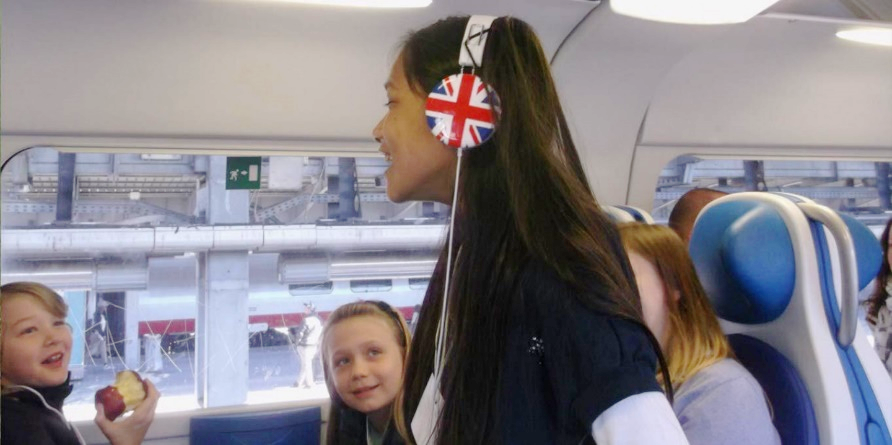
[[[876,229],[892,211],[890,170],[888,162],[680,156],[660,173],[652,214],[657,222],[666,222],[678,198],[697,187],[729,193],[761,190],[804,196]]]

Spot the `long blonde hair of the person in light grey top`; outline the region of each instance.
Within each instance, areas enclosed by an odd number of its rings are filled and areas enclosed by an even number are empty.
[[[718,317],[697,278],[687,247],[672,229],[627,223],[619,226],[626,249],[641,255],[657,269],[667,296],[669,339],[664,353],[672,387],[725,358],[734,358]],[[665,387],[662,376],[660,384]]]

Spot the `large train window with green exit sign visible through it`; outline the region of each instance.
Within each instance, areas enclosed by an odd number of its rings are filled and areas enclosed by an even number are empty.
[[[292,387],[307,308],[411,311],[442,244],[448,209],[388,201],[387,166],[52,147],[11,158],[0,280],[42,282],[70,306],[66,415],[91,419],[122,369],[159,387],[161,412],[326,398],[318,357],[316,386]]]

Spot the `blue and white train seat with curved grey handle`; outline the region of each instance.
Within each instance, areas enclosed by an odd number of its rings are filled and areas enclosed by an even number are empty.
[[[869,230],[804,198],[737,193],[704,208],[690,251],[784,444],[892,445],[892,379],[857,323],[881,257]]]

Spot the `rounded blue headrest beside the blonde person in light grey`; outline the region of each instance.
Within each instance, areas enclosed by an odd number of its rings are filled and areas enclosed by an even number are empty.
[[[767,323],[793,296],[793,243],[780,214],[748,201],[716,202],[697,219],[691,258],[716,313],[737,323]]]

